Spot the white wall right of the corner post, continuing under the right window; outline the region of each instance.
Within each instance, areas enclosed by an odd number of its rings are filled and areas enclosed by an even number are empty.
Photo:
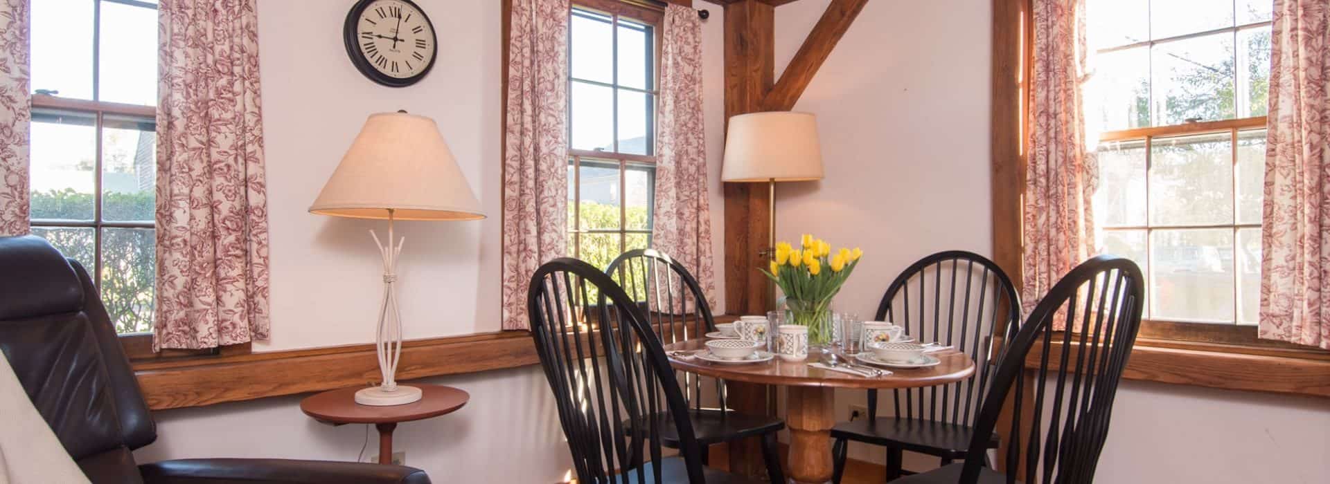
[[[775,9],[778,70],[829,3]],[[818,115],[826,179],[778,187],[777,233],[864,248],[841,310],[871,316],[924,255],[991,255],[990,34],[988,1],[870,1],[795,106]],[[863,402],[841,391],[837,412]],[[1097,481],[1327,483],[1327,455],[1323,399],[1124,382]],[[880,447],[851,446],[851,456],[883,460]]]

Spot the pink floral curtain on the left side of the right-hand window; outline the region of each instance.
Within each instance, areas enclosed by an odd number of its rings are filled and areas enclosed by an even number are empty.
[[[1095,252],[1096,158],[1085,147],[1085,0],[1035,0],[1029,139],[1021,210],[1025,312]]]

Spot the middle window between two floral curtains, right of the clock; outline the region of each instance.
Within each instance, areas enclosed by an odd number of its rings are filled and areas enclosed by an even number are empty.
[[[579,1],[571,16],[568,251],[605,268],[650,245],[660,12]]]

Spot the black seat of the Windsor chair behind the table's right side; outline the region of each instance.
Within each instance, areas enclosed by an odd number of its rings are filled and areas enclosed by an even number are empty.
[[[842,422],[831,427],[833,439],[900,447],[954,459],[964,457],[972,434],[974,428],[967,426],[894,416]],[[998,435],[990,439],[990,448],[998,448]]]

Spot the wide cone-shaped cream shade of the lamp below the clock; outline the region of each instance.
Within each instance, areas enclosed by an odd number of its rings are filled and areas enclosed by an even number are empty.
[[[434,119],[371,114],[310,212],[387,219],[390,208],[398,220],[485,217]]]

